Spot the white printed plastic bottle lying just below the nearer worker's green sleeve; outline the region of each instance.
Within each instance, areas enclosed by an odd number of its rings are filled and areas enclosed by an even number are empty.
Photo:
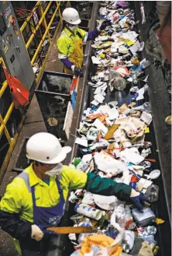
[[[86,204],[79,203],[74,207],[75,212],[80,213],[84,216],[87,216],[91,219],[101,219],[101,216],[104,215],[104,212],[98,209],[95,209],[94,207],[91,207]]]

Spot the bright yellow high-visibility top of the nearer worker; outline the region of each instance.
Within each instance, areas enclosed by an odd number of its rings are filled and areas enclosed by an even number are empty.
[[[24,170],[29,174],[29,185],[35,186],[36,205],[49,207],[57,205],[60,195],[57,190],[56,177],[50,177],[50,185],[40,180],[33,171],[33,164]],[[67,199],[69,189],[84,188],[87,174],[80,170],[64,166],[61,172],[60,185],[63,188],[64,199]],[[0,209],[4,212],[19,213],[20,219],[33,223],[33,199],[32,194],[21,177],[15,177],[6,188],[6,192],[0,202]]]

